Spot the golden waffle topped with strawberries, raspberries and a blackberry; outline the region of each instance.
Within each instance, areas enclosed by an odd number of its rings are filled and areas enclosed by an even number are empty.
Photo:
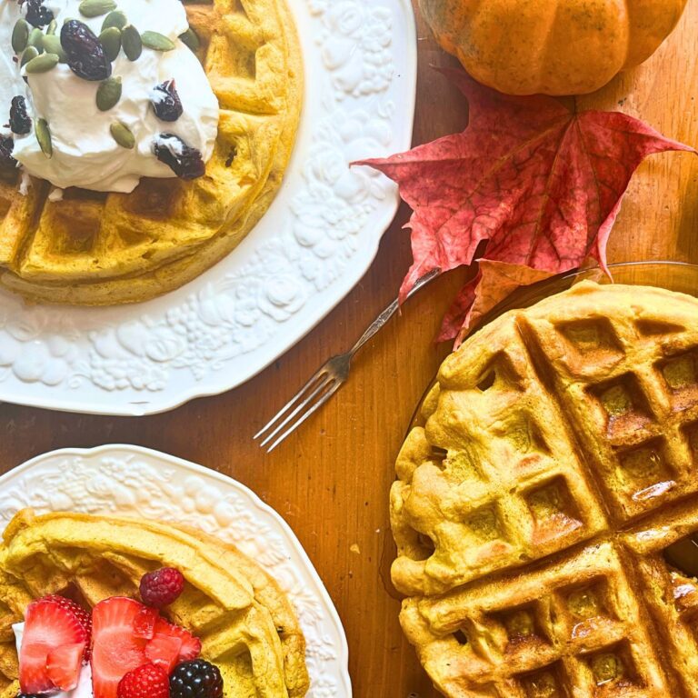
[[[161,566],[184,574],[170,620],[202,641],[224,678],[225,698],[296,698],[308,690],[305,642],[294,610],[274,580],[234,545],[194,529],[143,520],[24,510],[0,548],[0,674],[17,693],[12,623],[27,603],[50,593],[94,606],[137,597],[141,577]]]

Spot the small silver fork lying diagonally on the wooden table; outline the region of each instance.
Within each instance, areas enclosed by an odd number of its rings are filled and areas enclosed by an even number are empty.
[[[414,284],[412,291],[410,291],[407,297],[410,298],[420,288],[433,281],[439,274],[440,271],[438,269],[434,269],[429,274],[424,274]],[[333,356],[324,366],[318,369],[314,376],[304,384],[298,394],[281,408],[271,422],[266,424],[257,434],[254,434],[254,440],[264,437],[259,444],[261,448],[273,442],[267,448],[267,453],[271,454],[274,448],[281,444],[289,434],[293,434],[311,414],[329,401],[349,377],[349,370],[352,367],[354,355],[371,337],[384,328],[399,307],[400,304],[395,299],[393,303],[385,308],[383,313],[375,318],[371,326],[362,334],[361,339],[348,352]]]

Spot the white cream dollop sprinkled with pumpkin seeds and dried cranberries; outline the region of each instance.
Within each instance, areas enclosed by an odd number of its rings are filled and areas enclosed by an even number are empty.
[[[54,14],[60,36],[66,19],[77,19],[99,35],[105,15],[94,18],[80,13],[80,0],[45,0]],[[8,135],[10,103],[25,96],[32,129],[14,135],[12,155],[30,175],[47,179],[65,189],[79,186],[103,192],[131,192],[141,177],[174,177],[173,169],[158,160],[155,144],[163,134],[178,136],[184,145],[200,152],[207,161],[213,155],[218,132],[219,107],[204,68],[178,37],[188,29],[180,0],[116,0],[116,10],[143,34],[157,32],[174,44],[170,51],[143,47],[131,61],[122,49],[112,63],[112,76],[121,78],[118,103],[103,112],[97,108],[99,81],[78,77],[64,63],[45,73],[26,76],[26,84],[12,48],[16,21],[25,15],[17,0],[0,0],[0,135]],[[44,27],[45,31],[45,27]],[[183,113],[173,122],[155,115],[151,100],[157,85],[175,80]],[[35,135],[37,119],[44,119],[50,131],[53,154],[42,151]],[[116,122],[133,134],[135,146],[125,148],[115,141],[111,127]]]

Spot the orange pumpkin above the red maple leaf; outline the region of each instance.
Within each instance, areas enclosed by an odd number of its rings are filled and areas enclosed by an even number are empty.
[[[419,0],[446,51],[510,95],[581,95],[653,55],[687,0]]]

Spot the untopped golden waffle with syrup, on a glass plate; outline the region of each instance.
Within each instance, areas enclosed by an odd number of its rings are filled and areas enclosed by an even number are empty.
[[[698,696],[698,582],[668,562],[698,531],[698,301],[583,282],[511,311],[446,359],[422,416],[393,581],[437,688]]]

